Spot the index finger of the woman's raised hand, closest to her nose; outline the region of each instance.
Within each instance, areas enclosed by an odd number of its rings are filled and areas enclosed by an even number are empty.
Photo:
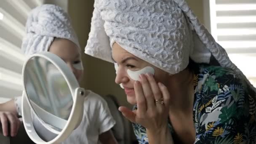
[[[137,114],[139,117],[143,117],[147,112],[147,102],[144,97],[141,83],[139,81],[134,82],[134,91],[138,107]]]

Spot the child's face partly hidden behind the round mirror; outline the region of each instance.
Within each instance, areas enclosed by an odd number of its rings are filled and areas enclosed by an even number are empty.
[[[56,54],[66,62],[78,82],[82,80],[83,69],[79,68],[79,65],[82,64],[81,53],[80,48],[75,43],[67,39],[55,39],[49,48],[49,52]]]

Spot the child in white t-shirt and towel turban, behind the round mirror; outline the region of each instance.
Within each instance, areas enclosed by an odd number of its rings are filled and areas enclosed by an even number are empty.
[[[26,24],[27,35],[22,41],[21,49],[26,56],[41,51],[49,51],[63,59],[74,73],[77,81],[83,77],[80,46],[69,16],[56,5],[41,5],[32,10]],[[84,102],[83,120],[80,125],[63,142],[64,144],[102,144],[117,143],[111,128],[115,125],[106,101],[98,94],[88,91]],[[19,128],[21,116],[21,97],[0,105],[0,120],[3,134],[8,134],[8,122],[11,136],[15,136]],[[39,120],[34,126],[41,138],[49,141],[56,135],[45,129]]]

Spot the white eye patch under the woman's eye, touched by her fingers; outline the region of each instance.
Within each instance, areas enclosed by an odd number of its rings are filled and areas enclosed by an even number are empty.
[[[127,73],[129,75],[129,77],[133,80],[139,80],[139,75],[141,74],[152,74],[155,75],[155,69],[153,67],[144,67],[141,70],[137,70],[137,71],[131,71],[130,69],[127,70]]]

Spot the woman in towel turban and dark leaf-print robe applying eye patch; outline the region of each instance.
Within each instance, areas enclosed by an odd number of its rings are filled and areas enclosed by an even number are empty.
[[[95,0],[85,53],[115,63],[139,143],[256,143],[255,88],[184,0]]]

